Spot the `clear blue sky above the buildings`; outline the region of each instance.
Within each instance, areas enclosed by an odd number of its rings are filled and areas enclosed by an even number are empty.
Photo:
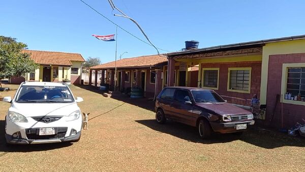
[[[113,16],[107,0],[83,0],[127,31],[145,40],[130,20]],[[305,1],[113,0],[138,21],[157,47],[179,51],[185,41],[199,47],[305,34]],[[102,63],[114,61],[115,42],[96,35],[115,34],[115,25],[78,0],[2,1],[0,35],[17,38],[29,49],[78,52]],[[146,41],[146,40],[145,40]],[[157,51],[118,28],[117,56]],[[160,51],[166,53],[167,51]]]

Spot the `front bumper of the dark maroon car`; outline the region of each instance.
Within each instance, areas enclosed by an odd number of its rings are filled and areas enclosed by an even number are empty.
[[[219,122],[210,122],[212,129],[215,132],[220,133],[234,133],[234,132],[242,132],[248,129],[248,126],[254,125],[255,121],[242,121],[242,122],[229,122],[229,123],[219,123]],[[247,124],[247,129],[236,129],[236,125],[238,124]]]

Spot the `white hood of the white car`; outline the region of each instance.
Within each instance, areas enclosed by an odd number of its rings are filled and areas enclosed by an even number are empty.
[[[37,116],[69,116],[72,112],[79,110],[74,103],[13,103],[9,108],[22,114],[24,117]]]

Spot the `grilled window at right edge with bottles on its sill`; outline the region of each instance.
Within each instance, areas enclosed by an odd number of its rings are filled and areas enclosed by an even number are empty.
[[[304,68],[288,68],[287,75],[287,92],[292,96],[305,97],[305,67]]]

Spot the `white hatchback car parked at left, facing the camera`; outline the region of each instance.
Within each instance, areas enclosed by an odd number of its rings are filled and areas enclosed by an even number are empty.
[[[69,87],[55,82],[22,82],[5,118],[8,144],[44,144],[78,141],[82,117]]]

